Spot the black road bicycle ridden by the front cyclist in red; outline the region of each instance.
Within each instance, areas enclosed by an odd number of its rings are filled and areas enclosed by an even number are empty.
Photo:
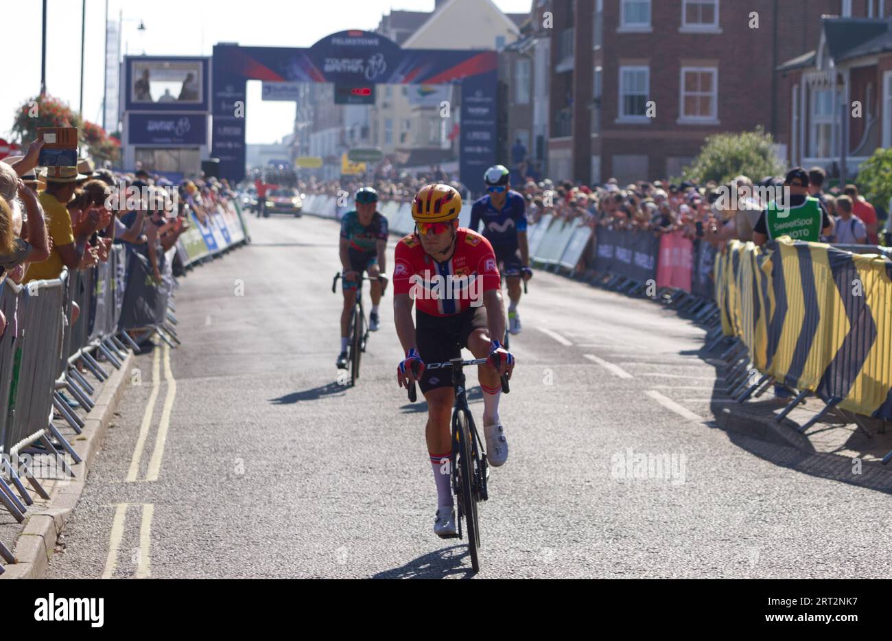
[[[486,479],[489,476],[486,453],[481,445],[480,435],[474,423],[474,417],[467,406],[465,390],[465,372],[469,365],[483,365],[489,359],[478,358],[463,361],[460,357],[447,362],[425,363],[425,370],[452,370],[452,387],[455,389],[455,405],[452,409],[452,456],[451,476],[452,492],[456,495],[458,535],[462,537],[461,522],[465,520],[467,529],[467,547],[471,554],[471,569],[480,571],[478,550],[480,548],[480,525],[477,519],[477,504],[489,499]],[[502,392],[508,394],[508,377],[501,377]],[[415,383],[409,384],[409,402],[415,403],[417,392]]]

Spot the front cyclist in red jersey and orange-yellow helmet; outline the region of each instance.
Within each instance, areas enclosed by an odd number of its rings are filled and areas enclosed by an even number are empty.
[[[477,368],[483,390],[487,460],[508,460],[508,440],[499,417],[500,375],[508,378],[514,356],[498,340],[505,335],[499,269],[489,241],[458,227],[461,196],[448,185],[422,187],[412,201],[417,231],[397,243],[393,264],[393,317],[406,358],[397,368],[401,387],[417,382],[427,401],[425,437],[437,487],[434,533],[456,534],[450,491],[450,419],[455,393],[449,370],[425,370],[425,362],[458,358],[467,348],[489,358]],[[412,304],[416,320],[412,320]]]

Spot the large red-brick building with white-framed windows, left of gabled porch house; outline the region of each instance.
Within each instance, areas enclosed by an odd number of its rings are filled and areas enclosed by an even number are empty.
[[[814,48],[822,14],[881,15],[884,4],[536,0],[552,20],[549,175],[677,176],[711,134],[778,131],[789,90],[774,70]]]

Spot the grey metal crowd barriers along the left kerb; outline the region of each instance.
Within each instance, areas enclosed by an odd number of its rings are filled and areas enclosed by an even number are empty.
[[[171,266],[176,251],[171,247],[159,254],[161,285],[150,282],[145,258],[136,252],[128,254],[121,245],[111,246],[107,262],[86,271],[63,270],[59,279],[27,285],[10,279],[0,283],[0,311],[7,320],[0,336],[0,504],[19,522],[33,504],[23,481],[49,499],[23,454],[53,457],[69,477],[74,476],[69,462],[81,462],[53,422],[55,410],[80,434],[85,423],[72,406],[79,404],[85,412],[95,406],[95,388],[78,364],[83,363],[96,379],[108,379],[110,374],[100,361],[120,369],[128,355],[124,344],[139,350],[128,335],[132,329],[158,333],[171,347],[180,342],[173,327],[177,324],[172,302],[177,282]],[[79,314],[72,323],[75,303]],[[128,305],[140,309],[132,312]],[[62,396],[62,390],[77,404]],[[15,562],[3,543],[0,558]]]

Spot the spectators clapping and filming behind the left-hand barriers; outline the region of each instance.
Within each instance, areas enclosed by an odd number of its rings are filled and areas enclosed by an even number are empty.
[[[27,284],[57,279],[64,269],[89,270],[119,244],[143,254],[160,283],[161,254],[188,229],[187,212],[203,223],[221,198],[235,196],[226,180],[175,185],[143,169],[95,169],[85,159],[76,167],[38,168],[42,146],[0,161],[0,296],[5,279]],[[70,322],[78,313],[74,304]],[[0,312],[0,337],[10,320]]]

